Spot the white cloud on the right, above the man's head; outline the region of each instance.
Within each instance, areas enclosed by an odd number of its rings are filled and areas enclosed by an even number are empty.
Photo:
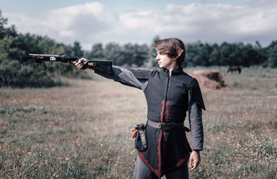
[[[139,12],[124,15],[121,20],[132,30],[147,28],[152,35],[179,37],[185,41],[262,41],[274,40],[277,31],[277,6],[232,6],[229,4],[191,3],[168,5],[148,15]],[[276,20],[275,20],[276,21]],[[264,36],[264,37],[263,37]]]

